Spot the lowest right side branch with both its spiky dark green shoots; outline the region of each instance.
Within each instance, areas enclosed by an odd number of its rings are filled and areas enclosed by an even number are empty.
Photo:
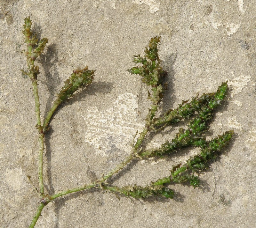
[[[174,166],[170,176],[158,179],[156,182],[152,182],[149,186],[141,187],[134,185],[132,187],[127,186],[122,188],[116,186],[103,186],[103,188],[133,198],[148,198],[149,196],[157,195],[172,199],[174,192],[165,185],[189,182],[194,188],[199,187],[200,180],[198,176],[190,174],[188,171],[194,173],[196,171],[207,169],[210,161],[217,158],[218,153],[228,144],[233,134],[234,132],[231,130],[209,142],[204,141],[204,145],[202,145],[203,149],[200,154],[189,158],[185,165],[181,166],[180,163]]]

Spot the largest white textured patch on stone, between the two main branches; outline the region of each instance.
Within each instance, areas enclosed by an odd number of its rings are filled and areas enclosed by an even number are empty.
[[[97,107],[89,107],[84,118],[88,129],[85,133],[85,142],[93,145],[96,154],[108,156],[109,152],[122,150],[129,153],[136,131],[141,130],[144,124],[137,123],[136,96],[124,93],[118,96],[112,107],[99,112]],[[139,134],[135,138],[139,137]]]

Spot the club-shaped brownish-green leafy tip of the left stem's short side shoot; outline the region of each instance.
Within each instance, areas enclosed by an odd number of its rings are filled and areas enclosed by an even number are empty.
[[[88,70],[88,67],[73,71],[71,76],[66,80],[64,86],[61,88],[60,92],[57,94],[58,99],[67,100],[74,95],[79,88],[84,88],[92,83],[94,79],[95,70]]]

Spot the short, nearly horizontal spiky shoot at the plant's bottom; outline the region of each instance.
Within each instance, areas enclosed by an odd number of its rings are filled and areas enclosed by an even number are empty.
[[[166,198],[173,198],[174,192],[172,189],[166,188],[161,185],[149,185],[146,187],[141,186],[126,186],[126,187],[116,187],[116,186],[105,186],[103,185],[103,189],[110,190],[115,193],[120,193],[125,196],[131,196],[133,198],[148,198],[152,195],[162,196]]]

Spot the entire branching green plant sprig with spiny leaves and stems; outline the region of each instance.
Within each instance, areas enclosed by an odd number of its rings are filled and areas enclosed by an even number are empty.
[[[203,133],[209,128],[209,120],[212,118],[214,109],[220,105],[220,102],[226,96],[228,85],[227,82],[223,82],[219,86],[217,92],[206,93],[201,97],[194,97],[190,101],[183,100],[176,109],[170,109],[159,115],[159,117],[156,117],[158,107],[164,96],[164,90],[166,89],[164,77],[167,75],[167,72],[160,65],[161,60],[158,56],[157,50],[160,37],[156,36],[149,41],[149,46],[146,47],[146,55],[144,57],[134,55],[133,62],[136,65],[139,64],[139,66],[134,66],[128,70],[131,74],[139,75],[142,78],[142,82],[149,87],[148,99],[152,102],[145,119],[145,127],[142,132],[139,133],[137,141],[133,143],[130,155],[124,158],[123,161],[116,165],[114,169],[108,171],[108,173],[99,177],[92,183],[84,184],[76,188],[68,188],[52,195],[46,194],[44,191],[43,180],[43,154],[44,136],[49,130],[49,123],[54,112],[58,107],[60,107],[61,103],[65,102],[67,99],[72,99],[74,92],[79,88],[87,87],[92,83],[95,71],[88,70],[88,67],[73,70],[71,76],[65,81],[64,86],[58,92],[57,99],[54,101],[52,108],[48,111],[46,118],[41,120],[37,85],[37,77],[40,72],[39,67],[35,65],[35,61],[36,58],[42,54],[48,39],[43,38],[38,40],[37,35],[31,32],[32,23],[29,17],[25,18],[23,26],[23,34],[25,35],[27,48],[26,50],[22,50],[22,52],[27,56],[28,70],[21,71],[22,74],[24,76],[28,76],[32,82],[36,106],[36,129],[38,130],[39,137],[39,188],[36,188],[34,185],[33,186],[40,195],[40,201],[36,214],[29,227],[35,226],[38,218],[41,216],[41,211],[49,202],[58,197],[89,188],[107,190],[116,194],[117,197],[119,197],[118,195],[125,195],[133,198],[147,198],[155,195],[157,197],[172,199],[174,197],[174,191],[169,188],[171,184],[188,182],[194,188],[200,186],[199,177],[198,175],[194,175],[194,173],[199,173],[201,170],[207,169],[209,167],[209,163],[218,157],[221,150],[227,145],[233,135],[233,131],[227,131],[210,141],[207,141],[203,136]],[[142,147],[142,145],[149,132],[159,133],[164,131],[167,126],[181,122],[184,119],[189,120],[186,129],[180,128],[179,133],[176,134],[172,141],[167,141],[162,144],[160,148],[152,148],[149,150],[143,149],[144,147]],[[170,157],[172,152],[187,146],[199,147],[201,152],[194,157],[190,157],[186,163],[180,163],[173,166],[170,171],[170,175],[167,177],[162,177],[151,182],[145,187],[136,185],[121,187],[106,183],[106,180],[122,170],[132,160],[147,159],[149,157]],[[32,183],[30,176],[28,176],[28,179]]]

